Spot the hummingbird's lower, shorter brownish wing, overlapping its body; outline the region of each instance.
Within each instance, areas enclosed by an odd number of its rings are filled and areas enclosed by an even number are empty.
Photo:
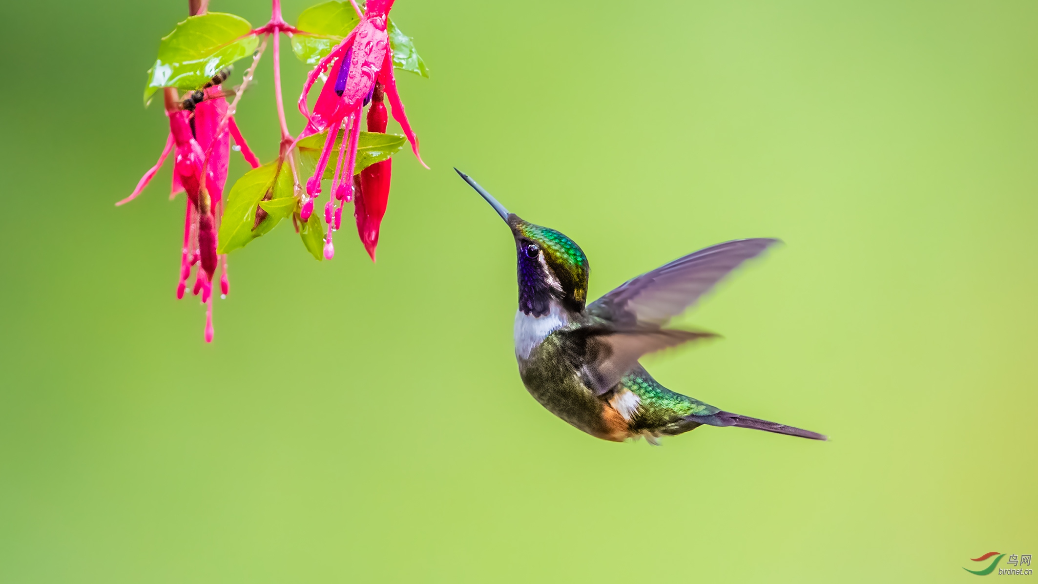
[[[633,329],[618,331],[599,327],[581,327],[556,333],[565,352],[588,387],[596,395],[612,389],[638,358],[648,353],[677,346],[691,340],[715,337],[703,331],[668,329]]]

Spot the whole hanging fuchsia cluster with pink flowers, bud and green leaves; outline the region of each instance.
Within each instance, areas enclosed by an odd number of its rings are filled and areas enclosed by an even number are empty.
[[[187,199],[176,298],[183,298],[188,287],[200,297],[207,307],[204,338],[209,342],[213,340],[213,283],[218,272],[221,296],[229,291],[226,253],[269,232],[281,220],[291,219],[306,250],[319,260],[330,259],[334,256],[332,232],[342,224],[343,204],[355,198],[354,174],[371,167],[375,168],[366,175],[358,175],[358,185],[367,175],[378,175],[379,179],[367,180],[372,186],[364,188],[371,195],[363,202],[358,201],[355,215],[363,219],[358,219],[358,231],[374,259],[388,196],[389,157],[408,140],[415,156],[418,154],[417,140],[397,94],[393,67],[424,77],[428,77],[428,69],[411,38],[389,20],[392,0],[368,0],[366,15],[355,0],[349,4],[336,0],[322,2],[300,13],[298,27],[284,22],[280,0],[271,0],[270,20],[260,28],[235,15],[208,11],[208,0],[189,0],[188,4],[188,19],[177,23],[160,41],[158,58],[148,71],[144,88],[145,105],[159,89],[163,90],[169,120],[165,148],[133,193],[116,204],[136,198],[166,158],[173,155],[170,198],[184,192]],[[353,18],[354,12],[358,19]],[[297,57],[317,64],[302,91],[300,109],[306,116],[306,126],[297,137],[290,133],[284,115],[282,34],[292,39],[292,51]],[[234,113],[268,41],[273,46],[273,86],[280,141],[276,160],[261,165],[242,138]],[[395,63],[394,49],[399,49]],[[230,65],[249,56],[252,64],[235,87],[234,99],[225,99],[231,92],[221,90],[221,86]],[[332,71],[328,72],[329,67]],[[317,78],[326,72],[332,78],[325,83],[310,114],[306,110],[306,95]],[[381,126],[376,124],[375,132],[360,132],[363,107],[372,100],[376,81],[385,87],[393,117],[403,127],[406,138],[385,133],[386,114],[381,104]],[[332,178],[332,192],[339,204],[335,208],[329,200],[325,205],[326,229],[321,217],[313,215],[313,199],[320,194],[321,179],[340,130],[349,138],[339,147],[334,176],[328,176]],[[328,133],[327,139],[319,136],[322,132]],[[252,170],[227,190],[231,149],[240,150]],[[302,171],[315,166],[317,172],[305,180]],[[194,281],[189,283],[192,271]]]

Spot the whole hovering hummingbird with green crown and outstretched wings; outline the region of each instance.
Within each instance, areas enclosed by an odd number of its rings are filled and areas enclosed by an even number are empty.
[[[586,304],[591,268],[580,246],[559,231],[509,213],[475,180],[455,171],[512,230],[519,281],[516,361],[526,390],[549,412],[577,429],[613,442],[645,438],[658,445],[662,436],[704,424],[827,440],[818,433],[733,414],[671,391],[638,363],[643,355],[717,336],[665,325],[778,240],[735,240],[701,249]]]

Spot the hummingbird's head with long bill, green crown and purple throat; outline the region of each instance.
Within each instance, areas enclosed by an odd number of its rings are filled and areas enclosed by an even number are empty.
[[[535,225],[509,213],[475,180],[455,170],[483,195],[512,229],[519,273],[519,310],[531,316],[543,316],[550,312],[554,300],[571,312],[582,311],[588,302],[591,267],[580,246],[554,229]]]

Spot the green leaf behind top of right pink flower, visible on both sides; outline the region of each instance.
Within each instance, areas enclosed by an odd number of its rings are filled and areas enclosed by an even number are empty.
[[[363,6],[363,2],[358,2]],[[421,60],[414,50],[414,40],[404,34],[387,19],[386,33],[389,35],[389,47],[392,49],[392,66],[429,77],[426,61]],[[308,34],[296,34],[292,37],[292,51],[299,60],[309,65],[316,65],[325,58],[331,50],[342,43],[357,23],[357,12],[349,2],[324,2],[310,6],[299,15],[296,28]]]

